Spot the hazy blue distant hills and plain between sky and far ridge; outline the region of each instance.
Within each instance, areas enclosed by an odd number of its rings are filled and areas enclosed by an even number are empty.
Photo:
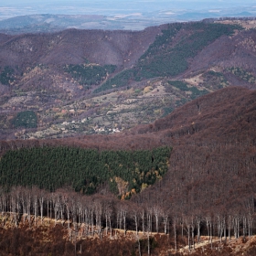
[[[41,11],[41,10],[40,10]],[[129,14],[104,13],[101,15],[69,15],[69,14],[38,14],[13,16],[2,19],[0,15],[0,33],[53,33],[61,30],[76,29],[103,29],[103,30],[144,30],[146,27],[155,27],[166,23],[191,22],[202,19],[219,19],[222,17],[249,17],[254,12],[248,6],[240,8],[218,9],[212,11],[188,10],[187,7],[176,11],[134,12]],[[152,18],[154,16],[154,18]]]

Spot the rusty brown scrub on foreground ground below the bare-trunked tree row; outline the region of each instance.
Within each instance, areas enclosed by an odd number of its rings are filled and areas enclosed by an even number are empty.
[[[107,237],[92,238],[79,240],[76,244],[71,240],[66,240],[67,229],[65,226],[58,224],[57,226],[42,225],[29,228],[27,225],[22,225],[17,228],[3,229],[0,228],[0,250],[1,255],[84,255],[84,256],[101,256],[101,255],[139,255],[138,242],[130,234],[129,239],[119,234],[118,238],[110,240]],[[129,233],[128,233],[129,235]],[[184,245],[184,240],[180,237],[180,245]],[[180,252],[170,250],[173,246],[173,238],[157,234],[152,237],[152,245],[150,255],[212,255],[212,256],[227,256],[227,255],[246,255],[251,256],[255,253],[255,237],[243,240],[231,240],[227,244],[219,242],[213,243],[214,250],[210,249],[208,240],[202,237],[201,243],[196,247],[195,251],[187,251],[181,249]],[[147,253],[146,237],[140,240],[141,255],[148,255]],[[166,254],[168,253],[168,254]]]

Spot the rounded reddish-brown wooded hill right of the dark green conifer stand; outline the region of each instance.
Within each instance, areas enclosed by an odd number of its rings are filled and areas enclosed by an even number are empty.
[[[256,91],[237,87],[187,103],[137,133],[171,138],[165,179],[140,200],[165,198],[175,216],[242,215],[254,210]],[[171,198],[171,199],[170,199]]]

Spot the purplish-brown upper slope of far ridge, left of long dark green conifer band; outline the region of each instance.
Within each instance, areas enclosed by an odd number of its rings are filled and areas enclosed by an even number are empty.
[[[163,27],[140,32],[69,29],[54,34],[1,35],[0,66],[115,64],[130,67]],[[124,61],[125,60],[125,61]]]

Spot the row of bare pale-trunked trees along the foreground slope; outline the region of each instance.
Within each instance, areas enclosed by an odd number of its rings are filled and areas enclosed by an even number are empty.
[[[190,210],[180,204],[166,205],[166,200],[148,193],[133,200],[123,201],[112,196],[95,195],[87,197],[62,188],[50,193],[37,187],[13,187],[9,193],[1,191],[0,212],[1,225],[6,220],[16,227],[20,222],[29,227],[38,226],[43,221],[64,223],[69,230],[69,238],[74,234],[80,237],[95,236],[115,237],[118,229],[133,230],[134,238],[139,238],[139,231],[150,237],[153,232],[161,232],[173,236],[177,250],[177,236],[187,237],[189,250],[200,242],[201,235],[208,236],[212,244],[213,237],[219,242],[229,241],[243,236],[251,237],[254,231],[254,198],[244,201],[238,210],[213,208],[196,211],[192,205]]]

